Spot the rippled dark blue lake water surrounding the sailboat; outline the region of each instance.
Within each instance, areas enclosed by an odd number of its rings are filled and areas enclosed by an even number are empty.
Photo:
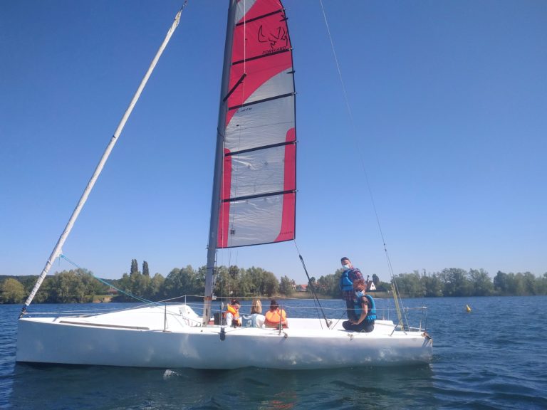
[[[547,409],[547,297],[405,300],[422,304],[429,308],[432,364],[313,372],[15,364],[20,306],[0,305],[0,408]]]

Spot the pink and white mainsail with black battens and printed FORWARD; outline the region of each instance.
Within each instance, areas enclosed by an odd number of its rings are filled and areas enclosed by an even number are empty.
[[[217,248],[295,235],[293,58],[281,1],[239,1],[229,67]]]

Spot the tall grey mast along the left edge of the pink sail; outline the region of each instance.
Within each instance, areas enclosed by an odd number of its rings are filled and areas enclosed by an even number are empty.
[[[211,301],[213,298],[213,275],[217,260],[217,233],[219,226],[220,184],[222,182],[222,160],[224,130],[226,129],[226,94],[228,93],[231,64],[231,47],[234,36],[234,20],[237,0],[229,0],[228,21],[226,23],[226,43],[224,44],[224,65],[222,85],[220,88],[219,122],[217,125],[217,147],[214,154],[214,179],[211,199],[211,220],[209,222],[209,243],[207,245],[207,273],[205,275],[205,295],[203,300],[202,325],[207,326],[211,318]]]

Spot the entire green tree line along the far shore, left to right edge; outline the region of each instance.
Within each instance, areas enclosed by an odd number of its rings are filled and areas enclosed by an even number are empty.
[[[49,275],[36,293],[35,303],[90,303],[94,300],[133,302],[137,300],[173,300],[182,295],[200,298],[204,294],[206,266],[174,268],[163,277],[150,275],[148,263],[139,270],[136,259],[131,261],[130,273],[120,279],[102,281],[89,270],[78,268]],[[338,283],[341,269],[321,278],[311,278],[308,288],[327,298],[340,298]],[[0,303],[22,303],[30,293],[37,276],[0,276]],[[369,277],[370,278],[370,277]],[[536,277],[530,272],[504,273],[499,271],[492,280],[483,270],[447,268],[436,273],[401,273],[395,276],[400,295],[409,298],[442,296],[490,295],[547,295],[547,273]],[[372,275],[375,288],[390,292],[392,283],[382,282]],[[393,282],[393,281],[392,281]],[[290,297],[296,289],[294,280],[278,279],[263,268],[219,266],[214,276],[214,293],[226,298]]]

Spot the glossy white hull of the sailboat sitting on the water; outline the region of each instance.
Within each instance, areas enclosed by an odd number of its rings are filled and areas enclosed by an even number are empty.
[[[319,319],[291,318],[276,329],[199,326],[186,305],[147,307],[89,317],[19,320],[18,362],[194,369],[330,369],[428,363],[432,340],[393,332],[377,320],[370,333],[321,329]]]

